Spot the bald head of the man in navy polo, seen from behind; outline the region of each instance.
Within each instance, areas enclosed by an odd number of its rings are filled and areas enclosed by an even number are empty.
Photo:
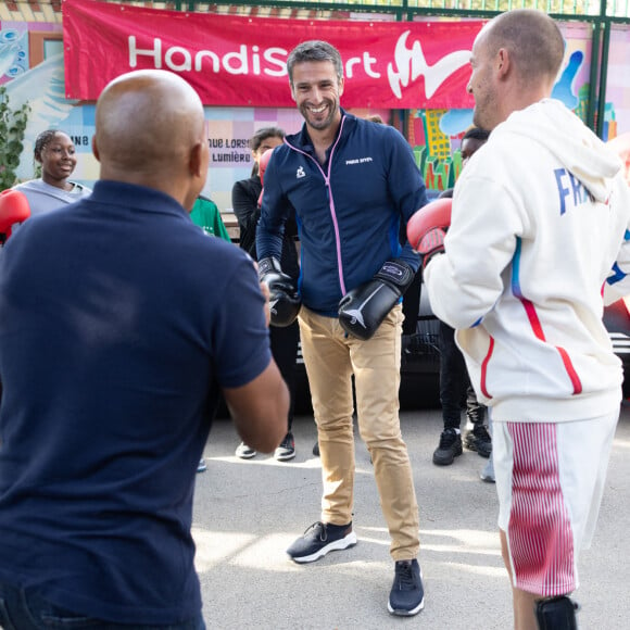
[[[205,173],[199,172],[202,153],[207,155],[201,100],[174,73],[124,74],[97,102],[93,148],[102,179],[156,188],[181,202],[176,191],[186,182],[198,187],[199,193],[205,181]],[[190,196],[186,193],[187,199]]]

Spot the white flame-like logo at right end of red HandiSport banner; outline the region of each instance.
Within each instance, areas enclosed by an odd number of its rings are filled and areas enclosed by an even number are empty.
[[[415,41],[411,49],[407,48],[407,37],[411,30],[405,30],[396,42],[394,51],[393,64],[388,63],[387,76],[391,91],[398,99],[402,98],[401,87],[407,87],[414,83],[419,76],[425,76],[425,94],[430,99],[436,90],[461,67],[468,65],[470,61],[469,50],[457,50],[443,56],[433,65],[428,65],[423,52],[423,46],[419,41]]]

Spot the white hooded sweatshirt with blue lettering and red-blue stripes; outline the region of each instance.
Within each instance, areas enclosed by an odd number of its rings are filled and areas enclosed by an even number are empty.
[[[475,153],[425,282],[493,420],[618,410],[602,293],[630,293],[630,192],[620,160],[559,101],[514,112]]]

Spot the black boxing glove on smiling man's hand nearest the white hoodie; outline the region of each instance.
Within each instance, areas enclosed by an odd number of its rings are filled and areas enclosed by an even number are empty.
[[[369,339],[414,279],[403,261],[387,261],[378,273],[349,291],[339,302],[339,323],[352,337]]]

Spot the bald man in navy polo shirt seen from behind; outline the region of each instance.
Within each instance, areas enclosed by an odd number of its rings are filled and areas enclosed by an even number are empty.
[[[92,194],[4,248],[2,628],[203,629],[190,527],[219,394],[249,444],[285,436],[254,265],[188,216],[204,129],[178,75],[115,78],[97,103]]]

